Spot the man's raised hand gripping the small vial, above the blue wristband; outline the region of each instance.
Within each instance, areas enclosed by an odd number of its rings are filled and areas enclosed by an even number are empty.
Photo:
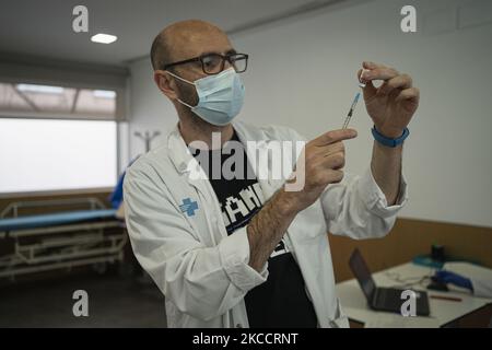
[[[419,89],[413,88],[410,75],[401,74],[394,68],[373,62],[363,62],[362,66],[365,69],[362,75],[362,81],[366,83],[365,107],[376,130],[387,138],[399,138],[419,106]],[[361,72],[359,70],[358,78]],[[374,80],[384,83],[375,88]]]

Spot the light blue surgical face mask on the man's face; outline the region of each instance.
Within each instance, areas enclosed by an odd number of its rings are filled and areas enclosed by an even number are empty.
[[[198,94],[196,106],[190,106],[179,98],[178,101],[203,120],[215,126],[224,126],[239,114],[244,102],[244,84],[234,68],[226,69],[215,75],[198,79],[195,82],[167,72],[188,84],[195,85]]]

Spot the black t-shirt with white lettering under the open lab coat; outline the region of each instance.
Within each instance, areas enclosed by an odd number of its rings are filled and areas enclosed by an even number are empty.
[[[247,225],[265,201],[257,178],[250,176],[254,172],[235,132],[232,141],[236,142],[226,142],[222,150],[190,149],[215,191],[227,234]],[[211,171],[214,162],[222,171]],[[249,326],[316,327],[316,314],[307,298],[301,269],[283,238],[268,259],[268,270],[267,281],[245,296]]]

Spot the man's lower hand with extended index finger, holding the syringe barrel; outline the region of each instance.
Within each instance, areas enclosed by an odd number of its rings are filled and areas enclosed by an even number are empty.
[[[298,212],[314,203],[329,184],[342,180],[341,168],[345,164],[343,140],[353,139],[358,132],[353,129],[328,131],[309,141],[304,148],[304,162],[296,164],[295,173],[304,172],[304,188],[285,192],[291,208]]]

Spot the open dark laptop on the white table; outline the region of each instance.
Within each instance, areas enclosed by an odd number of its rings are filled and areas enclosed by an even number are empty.
[[[352,253],[349,265],[359,284],[361,285],[371,308],[398,314],[401,313],[401,305],[408,300],[401,299],[401,293],[403,292],[402,289],[377,287],[359,249],[355,249]],[[429,316],[430,310],[427,293],[421,291],[414,292],[417,293],[417,315]]]

